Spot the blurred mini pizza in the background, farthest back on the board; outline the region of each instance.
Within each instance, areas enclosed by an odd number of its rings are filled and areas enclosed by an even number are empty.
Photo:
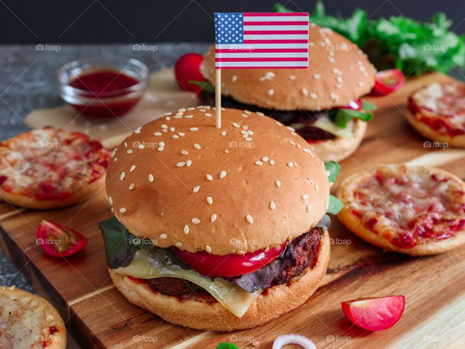
[[[408,122],[432,141],[465,147],[465,84],[433,82],[410,98]]]

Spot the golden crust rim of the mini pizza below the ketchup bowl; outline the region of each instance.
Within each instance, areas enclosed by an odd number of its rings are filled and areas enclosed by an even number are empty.
[[[15,194],[7,191],[1,191],[0,196],[12,205],[33,208],[33,209],[55,209],[75,205],[87,199],[90,199],[95,192],[105,186],[105,174],[89,185],[84,185],[78,191],[75,191],[65,199],[57,200],[37,200],[31,196]]]

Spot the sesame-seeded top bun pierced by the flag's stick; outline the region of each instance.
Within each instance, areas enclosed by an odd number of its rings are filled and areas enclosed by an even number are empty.
[[[291,127],[262,113],[180,109],[113,152],[107,194],[139,238],[188,252],[243,254],[310,230],[326,212],[324,164]]]

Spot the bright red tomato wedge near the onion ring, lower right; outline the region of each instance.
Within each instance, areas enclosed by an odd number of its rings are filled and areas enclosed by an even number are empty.
[[[405,309],[404,296],[358,298],[341,302],[345,316],[358,327],[383,331],[394,326]]]

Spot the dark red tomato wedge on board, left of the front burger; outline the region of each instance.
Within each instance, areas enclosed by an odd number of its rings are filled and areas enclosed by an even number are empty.
[[[62,224],[42,221],[37,228],[37,241],[42,250],[53,257],[67,257],[87,245],[87,238]]]

